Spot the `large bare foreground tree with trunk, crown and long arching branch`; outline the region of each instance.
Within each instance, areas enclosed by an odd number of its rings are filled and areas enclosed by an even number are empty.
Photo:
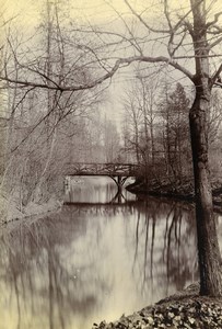
[[[154,35],[162,35],[167,41],[166,49],[168,56],[145,56],[141,47],[132,45],[137,56],[120,58],[109,72],[102,79],[113,76],[122,65],[135,61],[162,63],[172,66],[177,71],[184,73],[194,84],[195,100],[189,113],[192,163],[196,192],[196,219],[198,232],[198,254],[200,270],[200,294],[222,295],[221,280],[221,254],[217,238],[215,222],[213,216],[212,192],[210,184],[209,160],[208,160],[208,136],[207,136],[207,114],[210,109],[210,99],[213,86],[221,86],[219,80],[222,65],[218,64],[214,72],[211,72],[210,60],[217,57],[217,46],[222,39],[222,27],[220,19],[222,12],[213,12],[215,1],[190,0],[187,2],[186,12],[175,13],[170,8],[170,1],[161,2],[162,19],[165,20],[163,29],[149,25],[145,19],[145,10],[139,13],[131,2],[125,0],[126,5],[138,22],[145,27],[150,39],[156,42]],[[144,14],[143,14],[144,13]],[[212,18],[207,21],[207,18]],[[136,38],[135,38],[136,39]],[[139,38],[136,41],[139,42]],[[143,41],[141,42],[143,44]],[[188,46],[187,46],[188,45]],[[163,44],[161,49],[163,48]],[[187,53],[184,53],[184,50]],[[215,50],[214,50],[215,49]],[[153,48],[152,48],[153,50]],[[156,47],[155,50],[157,52]],[[149,49],[145,48],[144,53]],[[190,60],[190,69],[180,61]],[[217,65],[217,63],[215,63]]]

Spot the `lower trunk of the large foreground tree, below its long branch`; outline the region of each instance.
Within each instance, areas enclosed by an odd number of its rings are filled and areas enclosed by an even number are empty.
[[[206,113],[209,98],[202,88],[196,88],[196,99],[189,114],[200,271],[200,294],[222,296],[221,254],[213,215],[212,191],[208,163]],[[210,92],[210,90],[209,90]]]

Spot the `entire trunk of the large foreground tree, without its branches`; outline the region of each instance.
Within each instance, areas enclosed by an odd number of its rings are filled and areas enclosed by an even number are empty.
[[[190,0],[195,49],[196,98],[189,113],[196,194],[196,222],[200,271],[200,294],[222,296],[221,254],[213,215],[208,162],[207,115],[210,110],[211,80],[207,38],[206,1]]]

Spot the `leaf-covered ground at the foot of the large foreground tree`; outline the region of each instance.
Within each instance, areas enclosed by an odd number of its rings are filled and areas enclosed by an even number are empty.
[[[94,324],[93,329],[215,329],[222,328],[222,299],[199,296],[199,285],[148,306],[110,324]]]

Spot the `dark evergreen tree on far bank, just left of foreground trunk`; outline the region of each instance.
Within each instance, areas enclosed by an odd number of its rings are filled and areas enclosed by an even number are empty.
[[[189,99],[178,82],[171,93],[164,88],[162,98],[163,141],[166,166],[170,168],[167,172],[182,179],[183,174],[190,175]]]

